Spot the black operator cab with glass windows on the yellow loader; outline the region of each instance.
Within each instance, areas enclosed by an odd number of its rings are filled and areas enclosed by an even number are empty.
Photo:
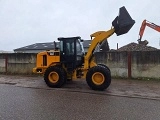
[[[80,37],[58,38],[60,41],[60,62],[68,71],[73,71],[82,66],[84,49]]]

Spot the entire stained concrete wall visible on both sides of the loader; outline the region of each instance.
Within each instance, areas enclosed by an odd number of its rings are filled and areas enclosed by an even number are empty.
[[[106,64],[112,77],[149,77],[160,79],[160,51],[97,52],[97,63]],[[0,73],[32,74],[36,53],[0,54]]]

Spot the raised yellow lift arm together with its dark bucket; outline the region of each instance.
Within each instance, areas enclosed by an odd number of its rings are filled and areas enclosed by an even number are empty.
[[[91,38],[93,40],[91,41],[91,45],[88,49],[88,52],[86,56],[84,57],[84,69],[87,70],[89,68],[89,64],[92,62],[91,58],[94,52],[94,49],[98,45],[98,43],[103,42],[107,38],[109,38],[114,33],[117,34],[117,36],[126,34],[134,25],[135,21],[131,18],[128,11],[125,7],[121,7],[119,10],[119,16],[117,16],[113,22],[112,27],[108,31],[98,31],[93,34],[91,34]]]

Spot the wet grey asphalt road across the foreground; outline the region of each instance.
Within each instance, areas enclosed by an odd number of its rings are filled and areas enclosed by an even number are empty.
[[[0,84],[0,120],[159,120],[160,101]]]

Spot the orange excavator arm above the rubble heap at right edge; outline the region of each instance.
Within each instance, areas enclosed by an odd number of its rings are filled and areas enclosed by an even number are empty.
[[[148,26],[148,27],[150,27],[150,28],[152,28],[152,29],[160,32],[160,26],[158,26],[158,25],[156,25],[156,24],[154,24],[154,23],[152,23],[152,22],[149,22],[149,21],[147,21],[147,20],[144,20],[144,21],[142,22],[142,25],[141,25],[141,28],[140,28],[140,31],[139,31],[139,39],[138,39],[138,42],[141,42],[141,39],[142,39],[142,36],[143,36],[143,34],[144,34],[144,30],[145,30],[146,26]]]

